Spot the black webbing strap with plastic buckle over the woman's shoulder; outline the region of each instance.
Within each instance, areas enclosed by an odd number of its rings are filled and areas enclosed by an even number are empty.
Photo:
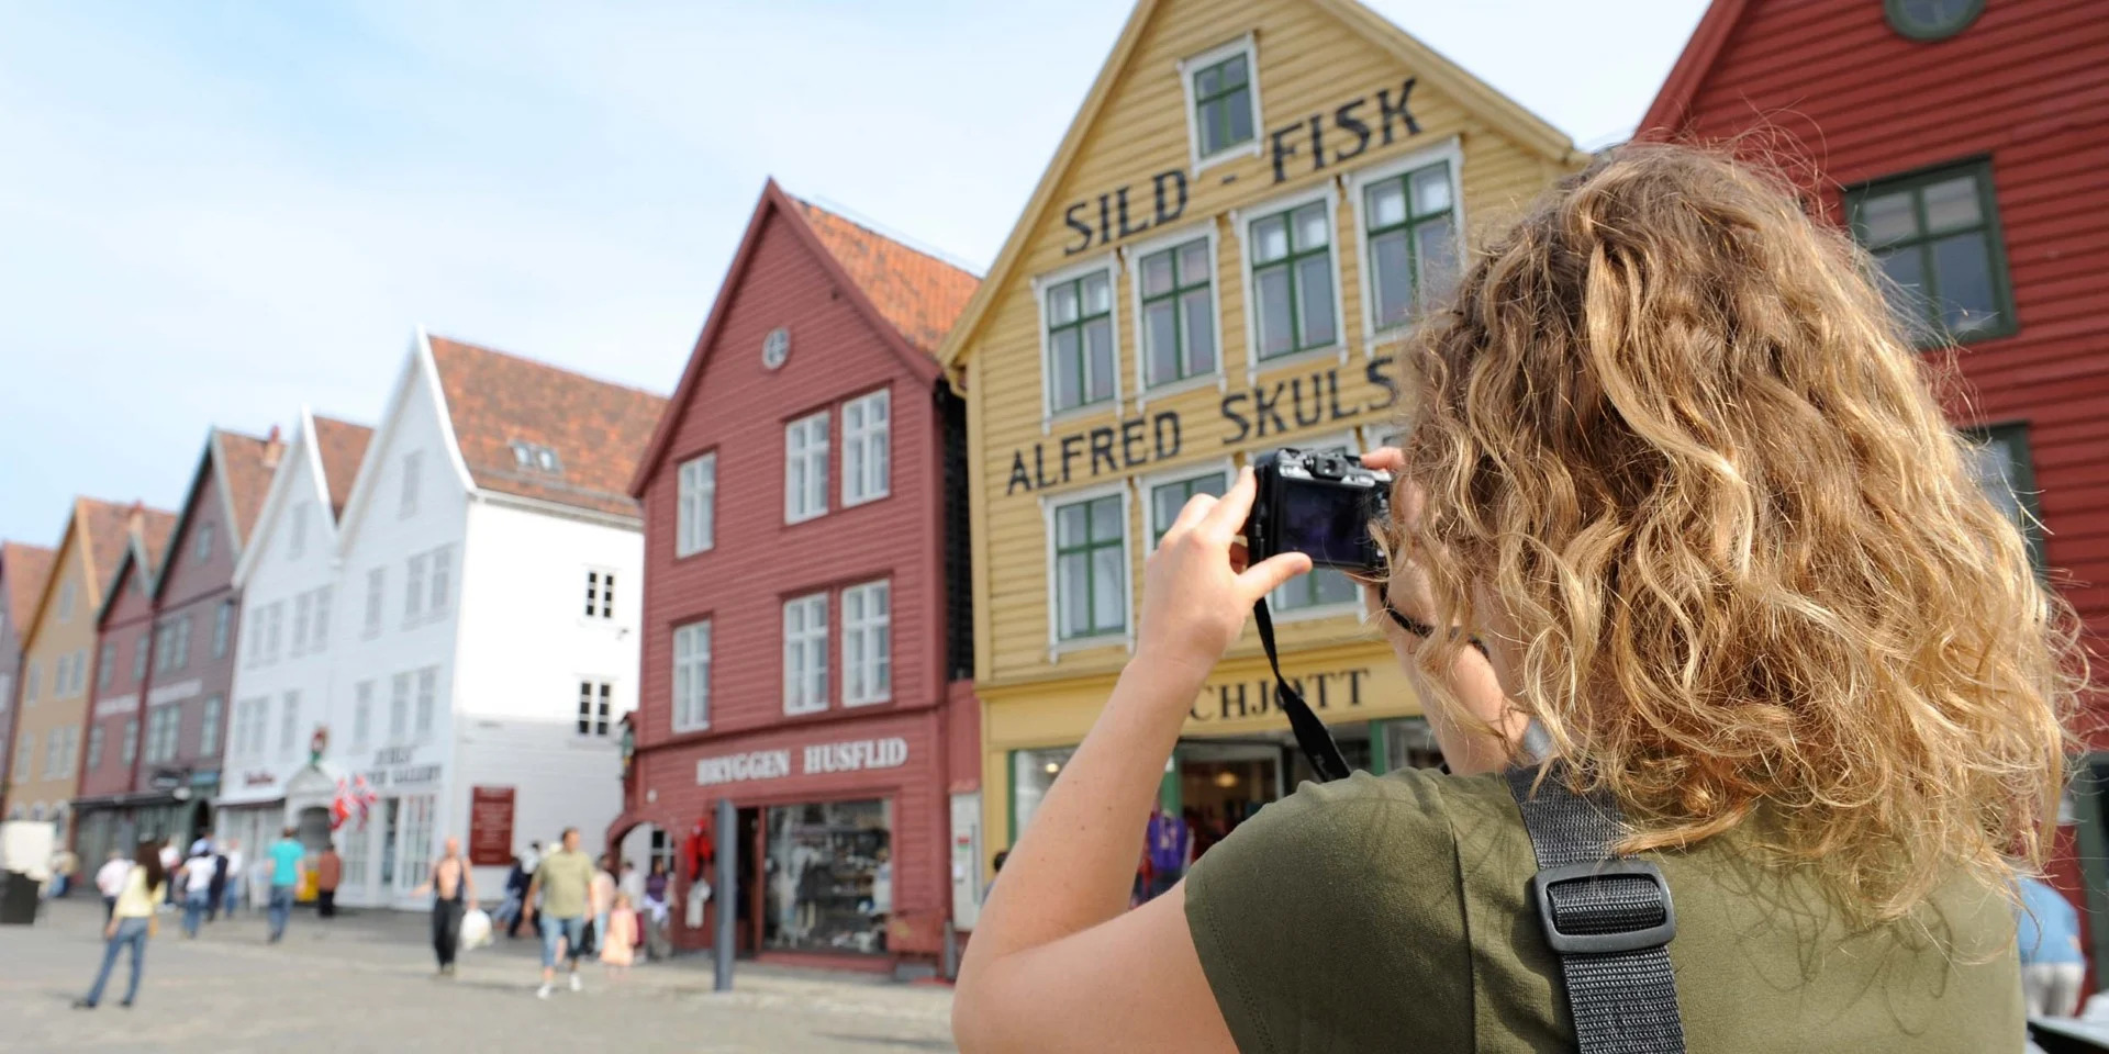
[[[1546,765],[1544,782],[1535,767],[1514,767],[1506,776],[1537,854],[1533,904],[1561,957],[1575,1050],[1683,1054],[1685,1027],[1668,949],[1677,913],[1668,885],[1653,864],[1613,852],[1626,831],[1615,801],[1578,797],[1561,763]],[[1561,949],[1592,942],[1620,951]]]

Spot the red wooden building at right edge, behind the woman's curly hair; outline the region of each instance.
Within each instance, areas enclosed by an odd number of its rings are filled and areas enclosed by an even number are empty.
[[[2098,0],[1715,0],[1641,122],[1782,145],[1957,348],[1980,479],[2109,639],[2109,19]],[[2098,677],[2098,675],[2096,675]],[[2096,698],[2096,704],[2103,700]],[[2096,750],[2109,736],[2096,713]],[[2109,753],[2082,759],[2054,877],[2109,953]],[[2084,885],[2084,890],[2082,890]]]

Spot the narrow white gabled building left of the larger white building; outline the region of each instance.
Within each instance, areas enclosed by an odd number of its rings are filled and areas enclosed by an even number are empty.
[[[371,438],[371,428],[302,409],[232,569],[240,607],[213,826],[251,854],[287,824],[285,782],[308,759],[299,713],[329,694],[331,637],[344,632],[337,516]]]

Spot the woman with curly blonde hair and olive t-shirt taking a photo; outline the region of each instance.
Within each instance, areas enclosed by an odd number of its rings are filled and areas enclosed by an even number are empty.
[[[1367,460],[1398,474],[1377,622],[1451,772],[1305,784],[1126,911],[1187,706],[1310,567],[1244,567],[1251,472],[1194,497],[983,909],[960,1048],[1573,1050],[1504,776],[1546,755],[1675,894],[1689,1050],[2016,1050],[2012,881],[2084,664],[1869,274],[1786,190],[1664,145],[1495,238]]]

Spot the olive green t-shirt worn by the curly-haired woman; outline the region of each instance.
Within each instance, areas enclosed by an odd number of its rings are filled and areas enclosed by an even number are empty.
[[[1746,833],[1647,854],[1670,883],[1670,963],[1698,1054],[2006,1052],[2023,1046],[2014,917],[1957,879],[1854,932],[1805,868]],[[1238,1050],[1573,1050],[1537,871],[1499,776],[1303,784],[1208,850],[1187,928]]]

